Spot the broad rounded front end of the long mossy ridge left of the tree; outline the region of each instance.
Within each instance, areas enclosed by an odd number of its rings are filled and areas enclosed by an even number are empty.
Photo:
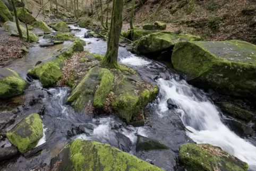
[[[43,87],[53,87],[61,78],[62,70],[58,63],[50,61],[33,67],[33,69],[29,70],[28,74],[36,76]]]

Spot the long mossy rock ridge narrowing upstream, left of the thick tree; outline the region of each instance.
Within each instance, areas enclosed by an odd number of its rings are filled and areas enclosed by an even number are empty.
[[[71,57],[74,52],[83,51],[83,42],[81,39],[75,39],[71,46],[58,50],[57,54],[52,56],[52,61],[41,63],[30,69],[28,75],[35,76],[40,80],[43,87],[53,87],[62,76],[62,66],[66,58]]]

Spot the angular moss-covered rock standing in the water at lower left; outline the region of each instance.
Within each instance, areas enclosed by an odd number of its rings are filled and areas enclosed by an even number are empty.
[[[42,119],[38,114],[25,117],[6,134],[8,140],[22,153],[35,148],[42,135]]]

